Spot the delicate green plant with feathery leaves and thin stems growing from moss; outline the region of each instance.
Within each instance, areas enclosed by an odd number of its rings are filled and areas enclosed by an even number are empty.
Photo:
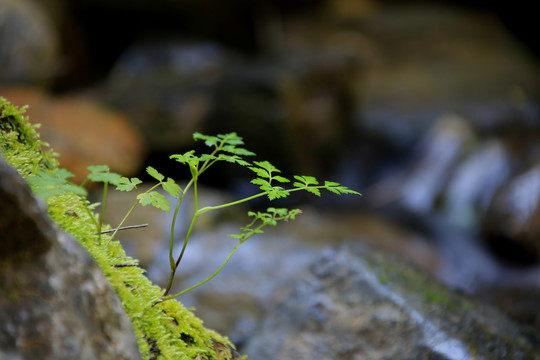
[[[101,215],[91,214],[91,217],[96,226],[96,232],[98,234],[102,233],[101,219],[103,218],[103,214],[105,212],[108,185],[111,184],[116,186],[116,189],[119,191],[135,191],[137,195],[135,196],[133,205],[127,211],[126,215],[124,216],[118,227],[114,229],[112,236],[106,243],[103,244],[103,246],[107,246],[109,242],[114,239],[116,233],[123,228],[124,223],[137,205],[152,205],[166,212],[169,212],[171,210],[171,204],[169,200],[161,192],[157,191],[158,188],[162,188],[173,198],[178,199],[174,208],[174,215],[172,217],[170,227],[170,275],[163,295],[159,299],[156,299],[154,304],[165,300],[174,299],[186,293],[187,291],[193,290],[208,282],[223,269],[223,267],[228,263],[229,259],[234,254],[234,252],[247,239],[249,239],[255,234],[263,233],[263,228],[268,225],[276,226],[277,223],[280,221],[295,219],[295,217],[301,213],[301,210],[269,207],[266,212],[248,212],[248,217],[251,218],[251,221],[246,226],[240,229],[241,231],[239,234],[230,235],[237,240],[237,243],[232,248],[229,255],[223,261],[221,266],[218,267],[218,269],[213,274],[208,276],[205,280],[176,294],[171,294],[170,291],[173,285],[175,274],[179,268],[180,262],[183,259],[195,223],[197,222],[197,219],[204,213],[235,206],[263,196],[268,197],[268,200],[270,201],[285,198],[296,191],[307,191],[316,196],[321,196],[321,190],[327,190],[337,195],[361,195],[359,192],[351,190],[346,186],[342,186],[337,182],[325,181],[324,183],[320,183],[316,178],[312,176],[294,175],[293,180],[291,181],[290,179],[280,175],[281,171],[268,161],[249,162],[246,160],[246,157],[251,157],[255,154],[243,147],[243,139],[234,132],[228,134],[220,134],[217,136],[203,135],[196,132],[193,134],[193,138],[196,141],[204,141],[204,143],[211,149],[211,151],[205,154],[197,155],[194,150],[191,150],[184,154],[174,154],[170,156],[171,159],[189,168],[189,171],[191,173],[191,179],[183,188],[179,184],[177,184],[172,178],[165,177],[165,175],[161,174],[158,170],[150,166],[146,168],[146,172],[156,180],[156,184],[154,184],[152,187],[150,187],[144,192],[142,192],[139,188],[139,185],[142,184],[142,181],[139,178],[122,177],[119,174],[111,172],[109,168],[105,165],[90,166],[88,168],[90,173],[81,185],[75,185],[71,183],[68,179],[73,176],[73,174],[69,173],[64,169],[59,169],[53,174],[40,173],[39,176],[29,179],[29,182],[33,185],[36,193],[41,197],[54,196],[62,192],[72,192],[79,194],[80,196],[86,196],[86,191],[83,188],[83,185],[86,183],[86,181],[91,180],[94,182],[102,182],[104,184],[104,191],[101,204]],[[232,202],[217,204],[214,206],[199,207],[199,179],[211,166],[218,162],[227,162],[250,169],[255,175],[254,178],[251,180],[251,183],[258,186],[258,192],[256,192],[254,195],[244,197]],[[291,183],[292,185],[290,185]],[[194,212],[190,225],[184,236],[180,253],[175,258],[173,254],[175,244],[174,229],[176,225],[176,219],[178,217],[183,200],[186,194],[190,191],[193,192]]]

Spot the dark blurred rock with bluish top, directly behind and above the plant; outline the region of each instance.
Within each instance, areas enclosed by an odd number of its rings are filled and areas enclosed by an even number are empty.
[[[212,42],[141,42],[112,69],[106,98],[130,116],[152,150],[191,146],[212,107],[211,89],[231,62],[233,54]]]

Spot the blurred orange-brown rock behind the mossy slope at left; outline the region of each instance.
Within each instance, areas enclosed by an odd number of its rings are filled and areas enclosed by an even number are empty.
[[[0,87],[0,93],[14,105],[30,105],[25,115],[41,124],[41,138],[75,174],[75,183],[90,165],[107,164],[124,176],[140,171],[146,142],[123,113],[88,96],[51,96],[35,87]]]

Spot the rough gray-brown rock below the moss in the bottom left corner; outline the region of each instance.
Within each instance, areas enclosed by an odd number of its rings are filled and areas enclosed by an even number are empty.
[[[98,265],[3,159],[0,204],[0,358],[140,359]]]

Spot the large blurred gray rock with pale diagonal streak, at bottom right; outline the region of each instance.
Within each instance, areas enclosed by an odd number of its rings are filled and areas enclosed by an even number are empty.
[[[289,290],[250,359],[540,359],[534,332],[365,247],[326,251]]]

